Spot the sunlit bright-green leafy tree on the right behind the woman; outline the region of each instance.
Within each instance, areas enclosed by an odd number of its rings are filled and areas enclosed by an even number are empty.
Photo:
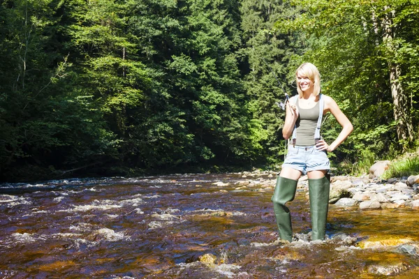
[[[323,90],[354,123],[357,150],[388,153],[413,141],[417,70],[416,3],[411,1],[299,1],[304,12],[278,23],[299,31],[308,49],[300,59],[314,62]],[[397,139],[397,140],[395,140]],[[344,145],[345,146],[345,145]],[[346,149],[351,153],[349,149]]]

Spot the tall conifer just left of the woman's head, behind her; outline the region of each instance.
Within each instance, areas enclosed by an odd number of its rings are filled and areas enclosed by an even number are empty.
[[[293,17],[298,8],[287,1],[243,0],[241,4],[244,47],[240,53],[249,67],[244,79],[251,140],[254,151],[274,163],[285,151],[281,144],[284,112],[276,103],[284,100],[285,92],[289,96],[296,93],[288,68],[292,68],[289,64],[293,54],[302,49],[297,33],[274,30],[274,24]]]

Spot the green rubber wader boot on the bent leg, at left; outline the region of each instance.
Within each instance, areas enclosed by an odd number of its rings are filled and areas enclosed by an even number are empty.
[[[277,225],[279,230],[279,237],[281,239],[293,240],[293,227],[291,225],[291,213],[286,202],[291,202],[295,197],[297,191],[297,180],[286,179],[278,176],[277,185],[275,186],[274,195],[271,201],[274,203],[275,218],[277,218]]]

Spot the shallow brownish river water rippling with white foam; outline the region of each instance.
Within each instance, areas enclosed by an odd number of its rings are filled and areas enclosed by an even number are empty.
[[[274,180],[251,179],[247,187],[242,174],[2,185],[0,278],[419,278],[418,211],[330,205],[329,239],[310,242],[300,189],[289,204],[297,241],[281,243]]]

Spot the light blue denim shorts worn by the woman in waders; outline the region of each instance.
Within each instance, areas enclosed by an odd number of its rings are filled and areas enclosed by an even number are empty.
[[[288,153],[282,164],[282,168],[291,167],[297,169],[302,174],[307,174],[312,170],[329,170],[330,162],[328,153],[318,151],[316,146],[293,146],[288,145]]]

